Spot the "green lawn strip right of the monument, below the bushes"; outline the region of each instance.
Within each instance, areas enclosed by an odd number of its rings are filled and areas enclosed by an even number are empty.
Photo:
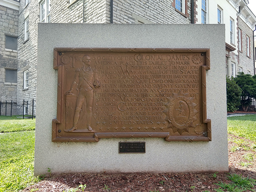
[[[228,133],[256,141],[256,115],[228,117]]]

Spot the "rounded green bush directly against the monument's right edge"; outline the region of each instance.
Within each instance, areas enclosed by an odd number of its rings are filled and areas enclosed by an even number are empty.
[[[226,79],[227,84],[227,111],[233,112],[237,110],[237,106],[241,101],[241,88],[236,84],[234,78],[231,77]]]

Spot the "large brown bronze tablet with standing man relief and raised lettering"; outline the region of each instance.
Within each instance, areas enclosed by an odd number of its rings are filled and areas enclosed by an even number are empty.
[[[211,141],[209,49],[55,48],[52,141]]]

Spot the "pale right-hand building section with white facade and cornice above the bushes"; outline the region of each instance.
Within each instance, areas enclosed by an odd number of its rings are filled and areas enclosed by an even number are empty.
[[[248,0],[198,0],[197,18],[202,24],[226,26],[226,74],[255,74],[253,30],[256,17],[248,8]]]

